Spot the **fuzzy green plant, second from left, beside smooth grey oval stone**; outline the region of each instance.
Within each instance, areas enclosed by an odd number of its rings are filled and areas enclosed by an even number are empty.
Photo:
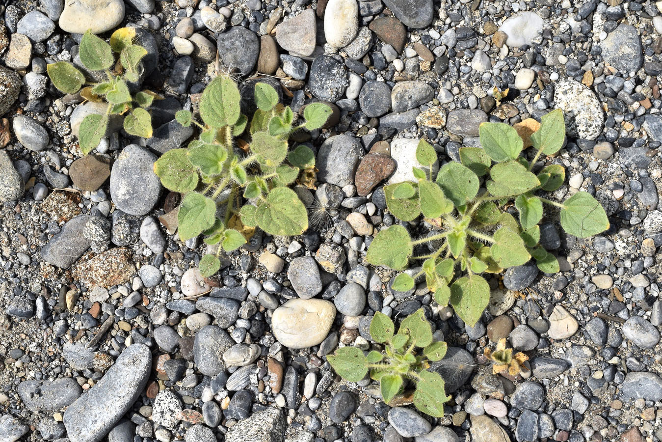
[[[292,109],[278,102],[270,85],[256,83],[255,101],[258,110],[249,125],[240,112],[237,85],[228,76],[214,78],[200,101],[203,123],[190,111],[175,115],[183,126],[198,126],[200,137],[154,164],[167,189],[185,193],[177,215],[181,241],[202,233],[205,243],[219,246],[201,259],[203,276],[216,273],[220,252],[241,247],[255,227],[270,235],[300,235],[308,228],[306,207],[287,186],[314,170],[314,152],[303,145],[288,152],[287,139],[295,131],[322,127],[331,108],[311,103],[305,121],[295,125]]]

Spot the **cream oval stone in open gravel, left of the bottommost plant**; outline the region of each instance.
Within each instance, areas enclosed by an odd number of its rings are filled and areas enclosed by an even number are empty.
[[[336,318],[336,306],[325,300],[289,300],[273,311],[271,329],[279,343],[290,349],[320,344]]]

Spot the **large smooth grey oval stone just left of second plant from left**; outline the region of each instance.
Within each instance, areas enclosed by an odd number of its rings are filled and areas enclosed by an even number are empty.
[[[156,205],[161,180],[154,173],[156,156],[138,144],[126,146],[111,171],[111,197],[129,215],[146,215]]]

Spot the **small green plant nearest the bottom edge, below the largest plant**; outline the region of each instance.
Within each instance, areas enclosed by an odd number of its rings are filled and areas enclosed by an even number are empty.
[[[436,372],[428,371],[428,360],[440,360],[446,355],[446,343],[434,341],[432,327],[423,309],[402,319],[395,334],[391,318],[375,313],[370,323],[370,336],[377,343],[385,343],[383,353],[371,351],[367,355],[358,347],[342,347],[327,360],[336,373],[350,382],[359,382],[370,372],[370,377],[379,380],[381,396],[389,403],[396,394],[404,391],[406,382],[415,384],[414,406],[431,416],[444,415],[446,396],[444,379]],[[416,348],[423,349],[422,355],[414,354]]]

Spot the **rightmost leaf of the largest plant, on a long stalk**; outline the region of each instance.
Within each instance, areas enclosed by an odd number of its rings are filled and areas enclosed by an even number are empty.
[[[586,192],[577,192],[563,201],[561,227],[570,235],[586,238],[609,229],[609,220],[594,197]]]

